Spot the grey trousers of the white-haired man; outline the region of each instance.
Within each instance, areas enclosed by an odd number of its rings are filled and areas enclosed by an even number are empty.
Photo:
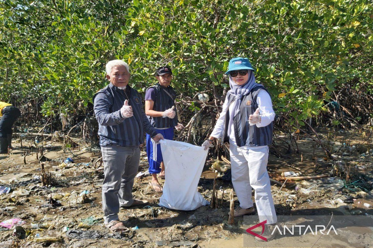
[[[140,148],[102,146],[104,182],[102,209],[105,224],[118,220],[120,206],[131,206],[132,187],[140,162]]]

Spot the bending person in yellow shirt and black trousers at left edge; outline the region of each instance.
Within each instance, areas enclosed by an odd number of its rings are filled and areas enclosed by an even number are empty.
[[[12,129],[21,111],[10,103],[0,102],[0,154],[12,149]]]

